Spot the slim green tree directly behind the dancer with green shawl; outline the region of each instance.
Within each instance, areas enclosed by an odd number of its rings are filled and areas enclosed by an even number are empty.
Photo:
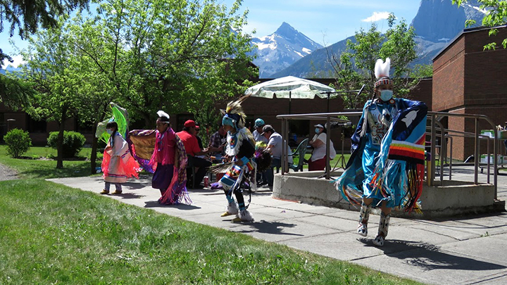
[[[79,94],[86,99],[86,108],[77,110],[80,123],[91,124],[96,133],[99,122],[110,117],[109,103],[118,99],[122,90],[128,90],[132,77],[127,77],[123,59],[123,47],[115,34],[108,33],[103,25],[95,25],[94,19],[83,19],[80,13],[68,23],[68,41],[73,46],[74,56],[79,59]],[[92,138],[90,172],[95,173],[98,139]]]

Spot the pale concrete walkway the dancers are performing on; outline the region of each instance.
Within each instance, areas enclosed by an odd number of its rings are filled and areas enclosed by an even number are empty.
[[[104,186],[101,177],[48,180],[97,195]],[[393,217],[384,247],[376,248],[378,215],[370,217],[370,234],[363,238],[355,233],[358,212],[280,201],[258,191],[249,207],[256,221],[234,223],[233,216],[220,217],[223,191],[190,190],[192,205],[164,206],[150,177],[124,185],[123,194],[107,197],[427,284],[507,284],[506,213],[438,221]]]

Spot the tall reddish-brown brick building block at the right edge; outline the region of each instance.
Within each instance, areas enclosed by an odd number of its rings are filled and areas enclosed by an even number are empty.
[[[487,115],[495,125],[507,121],[507,49],[484,51],[485,44],[507,38],[507,28],[498,27],[496,37],[489,37],[489,30],[464,30],[433,58],[434,111]],[[475,132],[473,119],[450,117],[444,124],[460,132]],[[480,129],[491,126],[480,120]],[[482,150],[485,147],[481,145]],[[453,158],[465,160],[473,153],[472,138],[453,140]]]

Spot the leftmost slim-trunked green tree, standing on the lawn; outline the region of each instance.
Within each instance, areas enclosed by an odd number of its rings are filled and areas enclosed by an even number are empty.
[[[28,50],[23,52],[24,58],[28,58],[23,77],[38,91],[35,117],[58,123],[56,167],[62,168],[65,121],[87,103],[81,101],[76,88],[80,84],[80,70],[60,26],[36,32],[28,42]]]

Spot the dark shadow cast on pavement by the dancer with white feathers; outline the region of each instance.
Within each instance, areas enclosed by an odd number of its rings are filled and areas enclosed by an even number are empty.
[[[358,239],[365,246],[374,246],[373,239]],[[406,264],[421,267],[423,270],[503,270],[506,266],[492,262],[465,258],[440,251],[431,243],[387,239],[382,246],[384,254],[391,258],[406,260]]]

